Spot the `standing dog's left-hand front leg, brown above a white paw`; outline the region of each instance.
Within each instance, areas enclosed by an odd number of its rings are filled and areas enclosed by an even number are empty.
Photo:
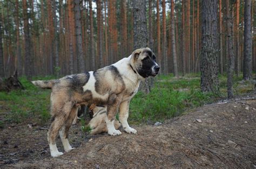
[[[107,105],[107,116],[106,116],[106,126],[107,126],[107,133],[111,136],[118,136],[121,135],[122,132],[116,130],[114,128],[114,119],[116,119],[117,110],[122,101],[122,95],[111,95],[109,98],[109,104]]]

